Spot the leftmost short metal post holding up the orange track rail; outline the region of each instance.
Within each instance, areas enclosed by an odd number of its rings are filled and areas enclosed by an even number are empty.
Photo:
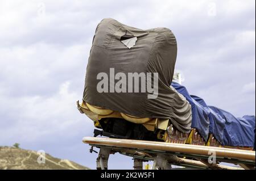
[[[110,151],[110,148],[100,148],[100,152],[98,153],[98,158],[96,160],[97,170],[108,170]]]

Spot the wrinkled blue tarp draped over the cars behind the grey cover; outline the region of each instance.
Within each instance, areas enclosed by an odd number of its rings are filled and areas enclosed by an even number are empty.
[[[231,113],[214,106],[207,106],[203,99],[189,95],[187,89],[179,83],[172,82],[192,107],[192,128],[196,128],[200,135],[207,140],[208,133],[226,146],[255,145],[255,116],[245,115],[234,117]]]

